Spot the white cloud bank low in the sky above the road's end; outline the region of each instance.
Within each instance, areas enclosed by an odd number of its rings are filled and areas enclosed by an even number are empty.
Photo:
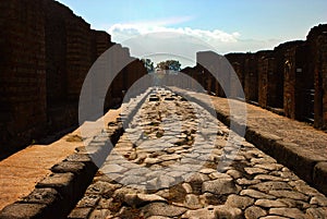
[[[192,17],[169,17],[157,21],[114,24],[109,28],[113,41],[129,47],[134,57],[159,62],[174,58],[182,66],[195,64],[197,51],[214,50],[223,54],[233,51],[272,49],[278,40],[242,39],[238,32],[207,31],[191,27],[168,27]]]

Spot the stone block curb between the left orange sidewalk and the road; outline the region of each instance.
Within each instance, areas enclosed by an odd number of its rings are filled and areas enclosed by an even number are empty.
[[[123,134],[123,123],[132,119],[150,92],[148,89],[138,97],[138,101],[134,98],[125,113],[120,114],[117,122],[109,123],[108,130],[96,136],[87,149],[82,146],[77,153],[55,165],[52,173],[38,182],[29,195],[4,207],[0,219],[66,218],[110,153],[111,144],[114,145]]]

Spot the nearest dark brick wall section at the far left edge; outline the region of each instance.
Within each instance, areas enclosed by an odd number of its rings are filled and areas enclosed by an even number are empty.
[[[1,156],[32,143],[46,126],[43,8],[41,0],[0,2]]]

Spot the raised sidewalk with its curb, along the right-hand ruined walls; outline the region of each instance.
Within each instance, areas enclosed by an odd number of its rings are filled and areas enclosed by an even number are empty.
[[[301,179],[327,195],[327,134],[310,124],[278,115],[263,108],[201,93],[170,87],[189,100],[211,105],[217,118],[229,126],[229,101],[246,107],[245,139],[289,167]],[[207,102],[210,100],[211,102]],[[239,124],[244,125],[244,124]]]

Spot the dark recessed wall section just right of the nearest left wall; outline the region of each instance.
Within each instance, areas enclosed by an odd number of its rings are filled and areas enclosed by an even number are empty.
[[[68,21],[73,12],[59,3],[46,1],[46,61],[47,61],[47,125],[49,132],[76,124],[76,106],[69,101],[70,89],[66,61],[69,40]]]

